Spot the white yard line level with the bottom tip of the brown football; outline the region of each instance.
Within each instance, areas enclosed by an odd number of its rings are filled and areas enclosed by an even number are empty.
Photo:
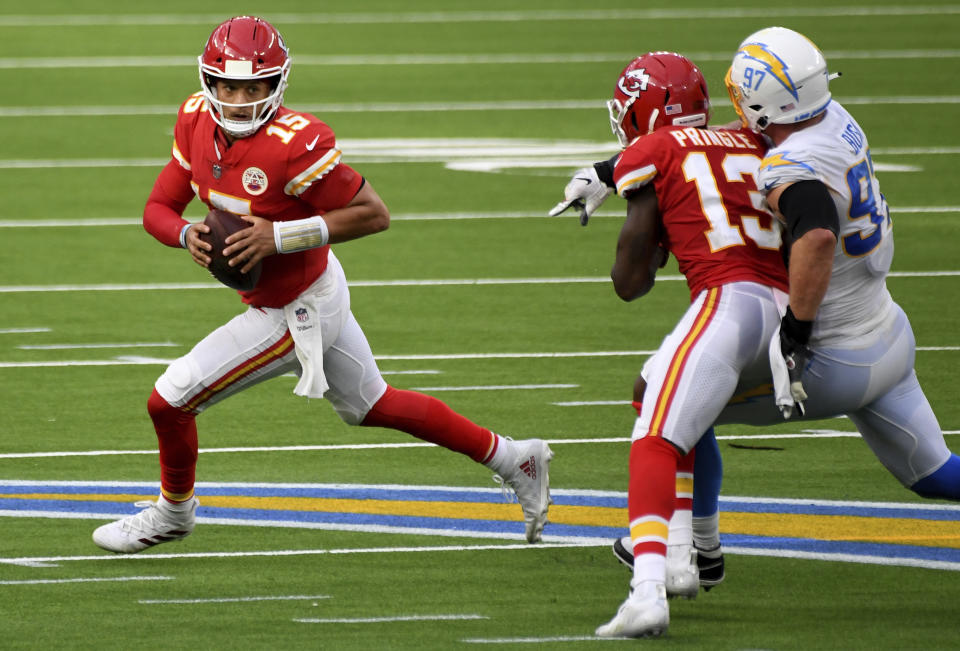
[[[960,276],[960,271],[893,271],[890,278],[946,278]],[[658,281],[681,281],[683,276],[665,274]],[[606,276],[555,278],[446,278],[423,280],[352,280],[350,287],[457,287],[495,285],[574,285],[609,283]],[[40,292],[130,292],[160,290],[225,289],[220,283],[110,283],[102,285],[0,285],[0,294]]]

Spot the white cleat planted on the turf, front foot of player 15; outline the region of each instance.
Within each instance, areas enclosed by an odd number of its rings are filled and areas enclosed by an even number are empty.
[[[136,554],[147,547],[186,538],[193,531],[199,504],[194,497],[187,511],[177,513],[157,502],[137,502],[137,506],[147,508],[97,528],[93,542],[109,552]]]

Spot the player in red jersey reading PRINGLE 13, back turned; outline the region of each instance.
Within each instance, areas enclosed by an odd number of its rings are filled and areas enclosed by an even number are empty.
[[[691,295],[690,307],[644,369],[647,388],[629,461],[631,593],[597,629],[601,636],[640,637],[667,629],[668,588],[696,595],[696,555],[689,546],[667,547],[668,526],[681,502],[689,512],[694,446],[741,372],[767,362],[787,275],[780,226],[762,208],[755,183],[766,144],[746,129],[707,128],[707,85],[692,62],[670,52],[634,59],[621,72],[608,109],[625,148],[612,181],[627,199],[611,271],[614,288],[627,301],[643,296],[672,253]],[[580,198],[584,205],[578,207],[589,211],[590,197]],[[603,198],[596,197],[593,207]],[[561,202],[552,214],[569,205],[577,204]],[[679,571],[668,572],[673,565]],[[668,577],[675,585],[667,585]]]

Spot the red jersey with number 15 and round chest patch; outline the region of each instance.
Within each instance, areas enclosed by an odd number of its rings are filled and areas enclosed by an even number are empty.
[[[273,120],[231,146],[218,133],[202,93],[180,107],[173,160],[151,194],[144,225],[157,239],[179,246],[186,204],[196,195],[210,208],[271,221],[290,221],[342,208],[363,177],[340,162],[333,130],[312,115],[280,107]],[[158,202],[172,209],[151,210]],[[263,259],[257,286],[239,292],[244,303],[283,307],[323,273],[329,245]]]

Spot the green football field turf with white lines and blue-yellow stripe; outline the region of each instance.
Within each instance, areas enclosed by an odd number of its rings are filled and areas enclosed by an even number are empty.
[[[292,377],[198,419],[193,535],[133,557],[92,543],[157,495],[156,377],[243,309],[140,225],[196,55],[243,11],[291,49],[286,105],[330,124],[391,210],[333,247],[385,378],[549,441],[543,544],[480,465],[348,427]],[[632,57],[689,56],[727,122],[730,58],[773,24],[843,73],[894,219],[888,284],[960,450],[960,5],[3,4],[0,648],[956,648],[960,507],[901,487],[844,418],[717,428],[727,580],[672,603],[663,640],[593,637],[628,587],[609,543],[633,380],[689,294],[671,262],[616,297],[621,199],[586,228],[546,212],[616,151],[604,102]]]

